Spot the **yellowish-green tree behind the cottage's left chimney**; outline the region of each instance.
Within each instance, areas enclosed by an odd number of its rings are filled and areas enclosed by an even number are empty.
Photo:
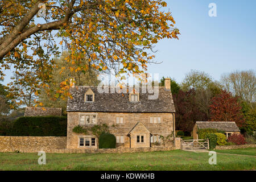
[[[67,109],[67,97],[59,97],[57,90],[60,89],[60,83],[65,79],[74,77],[75,84],[77,86],[97,86],[100,81],[97,79],[97,71],[93,68],[88,69],[86,72],[82,70],[77,70],[74,72],[69,72],[68,67],[78,68],[80,64],[84,66],[89,65],[89,61],[86,59],[78,60],[75,64],[65,61],[68,51],[64,51],[60,57],[55,57],[54,67],[52,68],[48,87],[40,89],[39,102],[41,102],[46,107],[61,107],[63,109],[63,114],[66,114]]]

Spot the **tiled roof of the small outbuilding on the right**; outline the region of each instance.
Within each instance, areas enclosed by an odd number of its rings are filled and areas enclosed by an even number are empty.
[[[217,129],[222,131],[239,132],[235,122],[225,121],[197,121],[196,125],[199,129]]]

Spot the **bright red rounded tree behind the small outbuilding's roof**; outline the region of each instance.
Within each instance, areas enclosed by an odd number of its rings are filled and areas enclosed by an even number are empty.
[[[238,127],[242,127],[245,119],[242,114],[242,107],[238,98],[231,93],[222,90],[220,94],[212,98],[210,105],[211,121],[233,121]]]

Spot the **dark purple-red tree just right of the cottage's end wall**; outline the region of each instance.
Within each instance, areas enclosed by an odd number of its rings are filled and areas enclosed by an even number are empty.
[[[207,115],[196,104],[194,89],[174,94],[176,129],[191,132],[196,121],[207,121]]]

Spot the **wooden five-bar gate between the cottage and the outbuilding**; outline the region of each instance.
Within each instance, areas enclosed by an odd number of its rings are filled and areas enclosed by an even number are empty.
[[[181,139],[181,149],[182,150],[207,150],[209,149],[209,140],[208,139],[197,139],[197,140]]]

